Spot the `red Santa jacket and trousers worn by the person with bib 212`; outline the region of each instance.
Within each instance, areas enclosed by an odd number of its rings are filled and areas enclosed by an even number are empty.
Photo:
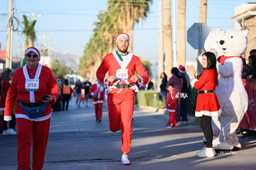
[[[41,74],[40,74],[41,73]],[[39,79],[38,91],[26,91],[25,82],[28,79]],[[41,117],[30,119],[17,102],[15,105],[15,117],[17,122],[18,138],[18,169],[30,169],[30,148],[33,142],[33,169],[42,169],[45,159],[46,145],[49,134],[51,117],[51,104],[54,104],[59,97],[59,86],[48,67],[38,64],[36,72],[28,75],[27,65],[14,72],[11,87],[7,93],[4,120],[11,120],[12,110],[16,99],[22,103],[40,103],[41,96],[51,95],[53,103],[49,103],[45,114]]]

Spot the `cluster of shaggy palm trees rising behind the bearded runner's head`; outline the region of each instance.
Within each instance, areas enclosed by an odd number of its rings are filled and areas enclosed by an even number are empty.
[[[80,59],[79,73],[96,79],[95,71],[103,57],[116,48],[116,35],[126,32],[130,36],[129,51],[132,51],[134,24],[145,19],[151,0],[108,1],[108,10],[101,11],[95,22],[93,36],[85,46]]]

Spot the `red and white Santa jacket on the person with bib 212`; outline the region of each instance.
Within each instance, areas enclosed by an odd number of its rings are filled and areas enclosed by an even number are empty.
[[[21,67],[20,69],[17,69],[14,72],[14,77],[12,78],[11,87],[7,92],[6,108],[4,111],[5,121],[9,121],[12,119],[11,115],[12,115],[12,111],[14,109],[14,104],[16,100],[19,100],[22,103],[41,103],[42,102],[41,96],[45,94],[53,96],[54,101],[52,103],[48,103],[45,114],[43,114],[43,116],[36,117],[31,120],[44,121],[46,119],[49,119],[49,117],[51,117],[51,104],[54,104],[59,97],[59,86],[56,83],[56,80],[54,79],[51,70],[48,67],[42,66],[41,64],[38,64],[38,67],[35,73],[35,77],[39,76],[38,90],[36,91],[25,90],[25,82],[26,82],[26,78],[24,74],[24,72],[26,72],[25,69],[27,69],[27,65],[25,65],[24,67]],[[27,73],[27,76],[31,76],[31,75],[28,75]],[[15,117],[30,119],[25,114],[25,112],[23,111],[23,109],[21,108],[18,102],[15,105]]]

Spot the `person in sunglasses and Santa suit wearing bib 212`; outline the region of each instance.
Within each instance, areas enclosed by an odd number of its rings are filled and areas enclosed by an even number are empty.
[[[59,96],[59,86],[48,67],[39,64],[38,49],[25,51],[27,64],[17,69],[7,93],[4,120],[12,119],[15,101],[17,122],[18,169],[30,169],[30,148],[33,143],[32,169],[43,169],[49,135],[51,104]],[[41,96],[44,96],[42,99]]]

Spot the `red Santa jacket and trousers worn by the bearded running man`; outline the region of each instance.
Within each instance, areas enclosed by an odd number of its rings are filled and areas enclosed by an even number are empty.
[[[148,73],[145,67],[140,61],[139,57],[129,53],[124,58],[124,61],[120,61],[116,54],[107,54],[100,67],[96,72],[97,79],[102,83],[106,80],[106,73],[109,76],[114,75],[116,77],[116,71],[118,69],[127,69],[128,76],[136,72],[140,76],[139,83],[146,85],[148,83]],[[134,112],[134,91],[137,90],[135,82],[131,82],[130,79],[123,80],[121,83],[134,84],[131,88],[116,88],[114,83],[109,82],[108,87],[108,116],[109,116],[109,129],[112,132],[117,132],[122,129],[122,147],[121,150],[125,153],[130,151],[130,142],[132,140],[132,114]]]

